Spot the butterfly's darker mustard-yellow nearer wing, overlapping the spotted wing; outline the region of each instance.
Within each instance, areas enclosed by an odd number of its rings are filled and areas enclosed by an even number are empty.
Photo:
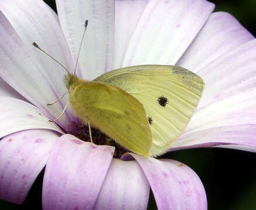
[[[124,90],[104,82],[84,82],[70,91],[78,117],[126,149],[149,155],[151,131],[143,105]]]

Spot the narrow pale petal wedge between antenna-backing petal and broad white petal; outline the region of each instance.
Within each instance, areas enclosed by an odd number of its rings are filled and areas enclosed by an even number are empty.
[[[134,28],[149,0],[115,1],[115,48],[113,69],[121,68]]]

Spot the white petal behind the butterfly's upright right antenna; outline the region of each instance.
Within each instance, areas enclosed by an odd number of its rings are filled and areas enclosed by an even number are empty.
[[[57,0],[58,17],[70,46],[74,63],[84,33],[85,20],[89,20],[79,57],[78,75],[92,80],[112,69],[115,27],[114,0]]]

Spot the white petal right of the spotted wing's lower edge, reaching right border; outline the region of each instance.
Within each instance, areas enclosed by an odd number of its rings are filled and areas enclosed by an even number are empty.
[[[256,124],[256,88],[200,108],[184,133],[229,125]]]

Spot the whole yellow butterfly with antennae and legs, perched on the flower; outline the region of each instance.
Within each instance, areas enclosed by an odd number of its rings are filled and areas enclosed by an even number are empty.
[[[87,25],[88,20],[85,30]],[[81,45],[79,52],[80,49]],[[120,68],[94,81],[67,71],[65,83],[70,93],[68,103],[78,118],[88,124],[91,141],[92,125],[124,148],[144,156],[158,156],[168,150],[188,125],[205,86],[198,75],[171,65]]]

